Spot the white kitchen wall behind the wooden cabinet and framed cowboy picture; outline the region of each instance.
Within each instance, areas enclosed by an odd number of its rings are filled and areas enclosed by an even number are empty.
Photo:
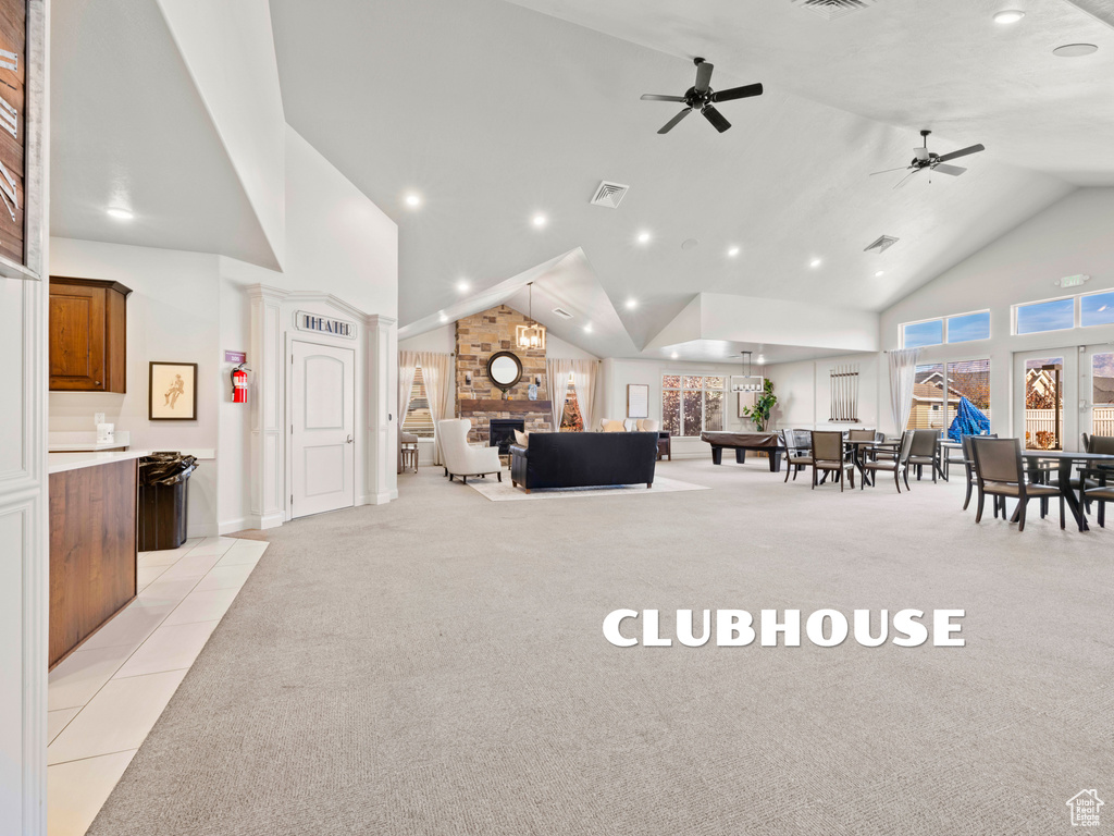
[[[182,450],[203,457],[189,480],[189,536],[217,532],[217,400],[221,292],[217,256],[174,250],[50,240],[57,276],[105,279],[131,289],[127,300],[127,393],[51,392],[50,431],[95,432],[94,412],[131,434],[137,449]],[[229,347],[231,348],[231,347]],[[197,363],[197,420],[150,421],[150,361]]]

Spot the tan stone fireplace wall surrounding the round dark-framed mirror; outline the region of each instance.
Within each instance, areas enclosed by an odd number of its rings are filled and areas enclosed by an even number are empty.
[[[457,321],[457,415],[472,419],[469,441],[490,443],[490,421],[521,421],[525,432],[549,432],[553,412],[546,388],[545,349],[520,349],[515,329],[529,319],[505,304]],[[487,376],[487,361],[497,351],[514,351],[522,363],[522,379],[504,398]],[[530,400],[530,383],[537,383],[538,399]],[[514,438],[514,434],[510,434]],[[500,451],[504,451],[500,449]]]

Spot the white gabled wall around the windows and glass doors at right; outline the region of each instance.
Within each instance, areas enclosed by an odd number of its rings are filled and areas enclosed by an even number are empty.
[[[1082,288],[1061,291],[1053,282],[1087,274]],[[921,362],[990,359],[993,429],[1018,435],[1014,427],[1015,352],[1073,348],[1114,340],[1114,325],[1042,334],[1012,334],[1012,307],[1114,288],[1114,188],[1081,188],[965,259],[881,315],[881,347],[899,347],[902,322],[990,311],[990,339],[922,350]],[[885,360],[879,373],[882,428],[893,431]],[[1081,397],[1088,397],[1083,393]],[[1074,446],[1075,439],[1066,439]]]

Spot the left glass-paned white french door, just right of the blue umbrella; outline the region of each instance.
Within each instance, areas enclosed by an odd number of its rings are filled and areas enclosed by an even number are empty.
[[[1014,354],[1014,435],[1029,450],[1079,449],[1079,349]]]

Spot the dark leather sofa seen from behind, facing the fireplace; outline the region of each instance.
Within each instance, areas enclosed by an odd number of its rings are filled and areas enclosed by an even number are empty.
[[[510,480],[534,488],[654,484],[656,432],[531,432],[510,446]]]

